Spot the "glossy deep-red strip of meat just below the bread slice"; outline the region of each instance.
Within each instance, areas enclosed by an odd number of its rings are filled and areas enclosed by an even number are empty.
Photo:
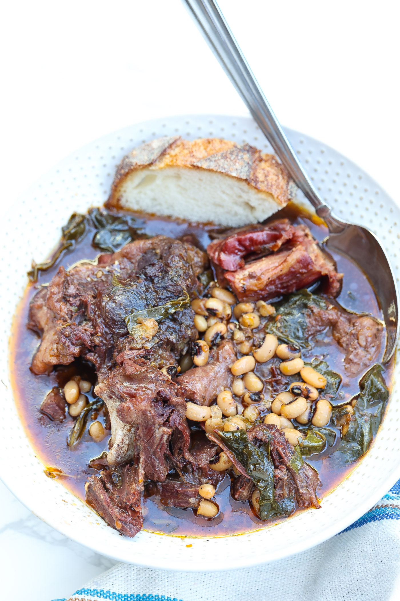
[[[245,266],[243,257],[246,255],[277,251],[293,237],[294,231],[288,219],[275,219],[266,225],[248,226],[223,240],[213,240],[207,246],[207,254],[219,267],[234,271]]]

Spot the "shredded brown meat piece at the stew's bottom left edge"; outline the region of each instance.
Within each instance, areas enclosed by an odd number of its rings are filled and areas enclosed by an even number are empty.
[[[86,502],[121,534],[133,537],[142,529],[140,490],[133,466],[106,469],[89,477],[85,484]]]

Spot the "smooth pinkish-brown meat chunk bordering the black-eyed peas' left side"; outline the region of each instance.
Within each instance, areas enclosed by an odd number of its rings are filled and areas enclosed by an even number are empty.
[[[236,361],[233,343],[223,340],[210,352],[203,367],[192,367],[179,376],[178,382],[185,398],[200,405],[209,405],[225,387],[231,386],[233,376],[230,365]]]

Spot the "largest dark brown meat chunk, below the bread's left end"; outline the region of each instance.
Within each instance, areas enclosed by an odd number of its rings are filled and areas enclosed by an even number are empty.
[[[97,265],[60,267],[31,303],[28,327],[42,334],[32,371],[49,373],[82,355],[95,364],[101,380],[115,364],[119,339],[128,334],[125,316],[199,291],[197,275],[207,262],[194,246],[156,236],[101,255]],[[179,356],[195,335],[193,323],[188,328],[188,316],[179,327],[178,316],[169,321],[160,336]]]

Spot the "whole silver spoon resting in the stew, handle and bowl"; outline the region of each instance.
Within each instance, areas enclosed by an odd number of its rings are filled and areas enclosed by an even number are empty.
[[[386,348],[382,359],[386,363],[395,352],[399,333],[399,297],[395,276],[381,243],[367,228],[338,219],[330,206],[321,200],[273,114],[218,5],[213,0],[184,0],[184,4],[279,159],[315,207],[317,215],[326,222],[330,235],[323,241],[324,247],[354,260],[371,282],[386,325]]]

